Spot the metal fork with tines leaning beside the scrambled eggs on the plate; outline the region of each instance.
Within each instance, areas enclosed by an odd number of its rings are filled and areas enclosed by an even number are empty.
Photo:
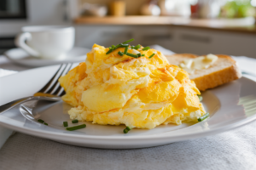
[[[55,75],[49,80],[49,82],[44,86],[44,88],[40,89],[33,96],[28,96],[26,98],[15,99],[5,105],[0,106],[0,114],[9,111],[14,108],[16,105],[21,105],[31,100],[48,100],[48,101],[60,101],[61,96],[65,94],[63,88],[61,88],[60,82],[58,82],[61,76],[67,74],[68,71],[72,68],[71,63],[61,64],[58,71],[55,72]]]

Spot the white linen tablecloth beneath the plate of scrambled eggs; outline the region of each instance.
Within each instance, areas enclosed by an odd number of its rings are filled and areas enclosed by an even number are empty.
[[[256,59],[235,59],[243,72],[256,74]],[[27,69],[11,64],[1,56],[0,68],[13,71]],[[13,71],[0,70],[0,74],[14,73]],[[247,77],[256,81],[253,76]],[[10,133],[11,131],[0,127],[0,148],[1,139],[4,143],[3,137]],[[136,150],[90,149],[15,133],[0,149],[0,169],[255,170],[256,122],[202,139]]]

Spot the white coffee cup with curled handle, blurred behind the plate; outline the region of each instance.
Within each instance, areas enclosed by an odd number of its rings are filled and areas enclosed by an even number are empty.
[[[34,57],[61,58],[74,44],[72,26],[24,26],[15,44]]]

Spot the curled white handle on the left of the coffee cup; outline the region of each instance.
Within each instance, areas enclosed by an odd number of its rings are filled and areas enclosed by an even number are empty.
[[[24,32],[20,33],[16,38],[15,38],[15,44],[19,48],[24,49],[28,54],[31,54],[34,57],[39,57],[39,53],[34,50],[33,48],[29,47],[26,45],[26,40],[31,39],[32,35],[29,32]]]

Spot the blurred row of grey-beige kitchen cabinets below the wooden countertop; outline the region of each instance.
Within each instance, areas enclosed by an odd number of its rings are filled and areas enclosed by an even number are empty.
[[[76,45],[106,47],[135,38],[132,44],[159,44],[175,53],[229,54],[256,58],[256,33],[215,31],[185,26],[76,25]]]

